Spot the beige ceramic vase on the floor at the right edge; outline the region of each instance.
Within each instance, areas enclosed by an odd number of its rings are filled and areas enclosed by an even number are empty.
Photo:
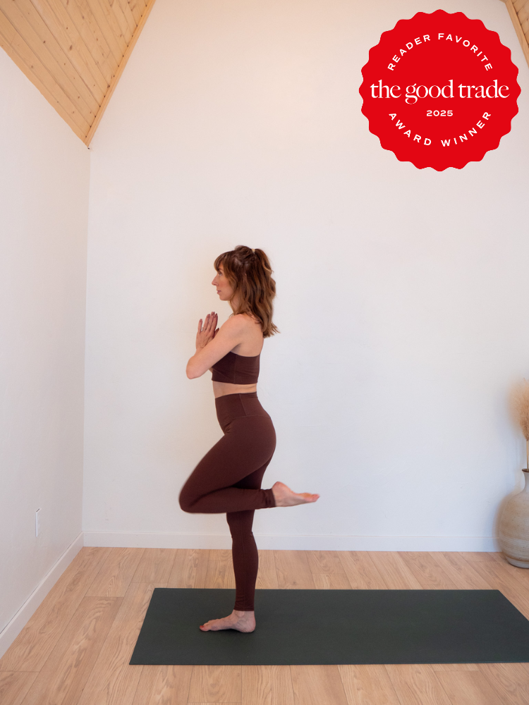
[[[504,506],[499,520],[499,545],[505,558],[518,568],[529,568],[529,472],[523,470],[525,487]]]

